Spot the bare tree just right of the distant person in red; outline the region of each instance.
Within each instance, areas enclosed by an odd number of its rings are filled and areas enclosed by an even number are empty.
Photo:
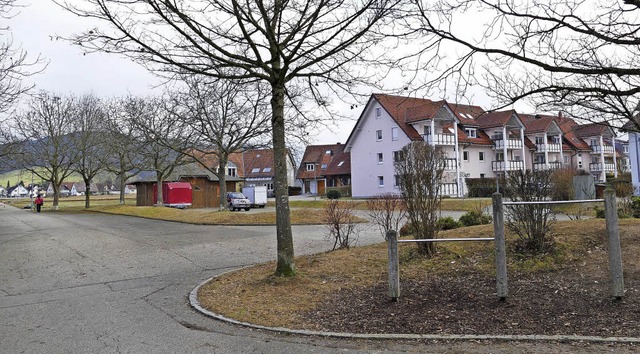
[[[18,168],[33,172],[53,187],[53,207],[58,208],[60,185],[73,172],[77,150],[72,134],[77,99],[41,92],[26,111],[16,115],[12,129],[19,139]]]

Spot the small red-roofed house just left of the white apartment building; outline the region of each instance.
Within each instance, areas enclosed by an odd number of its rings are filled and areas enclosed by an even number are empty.
[[[340,143],[307,146],[296,175],[302,193],[323,195],[326,188],[336,188],[351,195],[351,154],[344,148]]]

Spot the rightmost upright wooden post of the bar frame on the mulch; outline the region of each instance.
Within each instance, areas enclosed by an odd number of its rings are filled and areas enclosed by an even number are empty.
[[[612,188],[604,191],[604,213],[609,239],[609,271],[611,274],[611,290],[616,299],[624,295],[624,278],[622,275],[622,255],[620,250],[620,230],[618,228],[618,207],[616,192]]]

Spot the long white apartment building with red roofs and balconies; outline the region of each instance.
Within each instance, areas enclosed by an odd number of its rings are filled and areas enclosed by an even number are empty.
[[[444,100],[374,94],[344,151],[351,154],[354,197],[399,192],[393,161],[411,141],[424,141],[446,155],[440,191],[463,196],[466,178],[524,169],[575,167],[605,181],[618,171],[615,138],[609,126],[578,125],[562,116],[485,112]]]

